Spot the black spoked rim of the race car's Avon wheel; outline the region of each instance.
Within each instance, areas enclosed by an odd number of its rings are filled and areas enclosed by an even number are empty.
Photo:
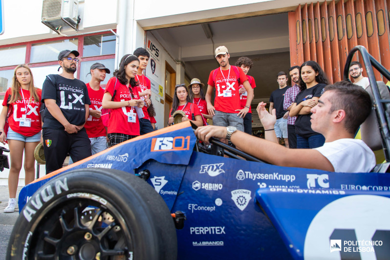
[[[63,196],[43,210],[31,228],[29,259],[132,259],[124,217],[104,198],[84,195]]]

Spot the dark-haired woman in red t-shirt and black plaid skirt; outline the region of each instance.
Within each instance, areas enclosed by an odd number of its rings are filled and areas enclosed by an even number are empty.
[[[119,69],[108,80],[103,95],[103,108],[111,108],[108,120],[109,147],[139,135],[139,121],[136,109],[142,110],[144,101],[137,90],[139,60],[132,54],[122,57]]]

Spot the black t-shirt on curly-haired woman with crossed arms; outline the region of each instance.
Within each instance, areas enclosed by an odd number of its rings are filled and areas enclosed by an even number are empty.
[[[313,97],[321,97],[324,93],[325,86],[326,84],[319,83],[314,87],[304,89],[295,97],[294,103],[299,105],[304,100],[312,99]],[[298,115],[297,120],[295,121],[295,132],[305,138],[318,134],[318,132],[311,129],[311,114],[312,113],[308,113],[307,115]]]

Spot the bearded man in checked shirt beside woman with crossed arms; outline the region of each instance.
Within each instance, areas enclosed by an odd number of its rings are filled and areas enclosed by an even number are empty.
[[[283,109],[289,112],[292,108],[292,105],[294,104],[295,97],[301,90],[299,89],[298,85],[299,66],[292,66],[288,69],[288,71],[290,72],[292,87],[288,88],[286,93],[284,93]],[[296,119],[296,116],[290,117],[290,115],[288,115],[287,117],[287,135],[289,148],[297,148],[297,134],[295,133],[294,125]]]

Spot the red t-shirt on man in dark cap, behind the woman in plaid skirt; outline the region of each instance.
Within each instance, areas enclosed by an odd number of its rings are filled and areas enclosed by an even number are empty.
[[[91,105],[89,105],[89,110],[99,110],[102,111],[102,99],[104,94],[104,89],[99,88],[99,90],[93,90],[89,83],[86,84],[88,89],[88,96],[91,100]],[[87,135],[89,138],[95,138],[99,136],[106,136],[106,128],[103,126],[101,118],[96,118],[89,115],[87,122],[84,126],[87,130]]]

